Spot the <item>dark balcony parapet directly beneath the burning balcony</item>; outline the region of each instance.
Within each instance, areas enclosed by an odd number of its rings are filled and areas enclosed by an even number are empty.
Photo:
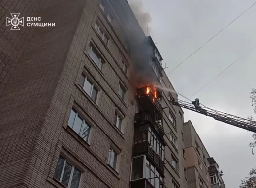
[[[154,116],[153,116],[154,117]],[[152,118],[152,115],[148,112],[140,112],[135,114],[134,124],[135,126],[142,125],[142,124],[150,124],[154,130],[158,133],[161,139],[163,139],[164,131],[160,123],[156,123],[155,120],[159,120],[159,118]],[[155,120],[154,120],[155,119]]]

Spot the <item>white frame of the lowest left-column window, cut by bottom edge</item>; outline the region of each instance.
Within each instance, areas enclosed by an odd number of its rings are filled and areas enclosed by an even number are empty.
[[[58,180],[56,176],[56,169],[58,167],[58,162],[60,160],[60,158],[64,159],[64,162],[63,162],[63,166],[62,166],[62,170],[61,170],[61,176],[60,176],[60,179]],[[64,175],[64,169],[65,169],[65,165],[66,163],[68,163],[69,165],[71,165],[71,172],[70,172],[70,177],[69,177],[69,180],[68,180],[68,185],[65,186],[63,183],[62,183],[62,179],[63,179],[63,175]],[[77,170],[80,172],[80,178],[79,178],[79,182],[78,182],[78,188],[81,186],[81,180],[82,180],[82,174],[83,172],[76,167],[76,165],[73,165],[72,162],[70,162],[68,159],[66,159],[64,156],[60,155],[59,158],[58,158],[58,161],[57,161],[57,164],[55,166],[55,171],[54,171],[54,175],[53,175],[53,178],[55,180],[57,180],[58,182],[60,182],[65,188],[71,188],[71,184],[72,184],[72,179],[73,179],[73,175],[74,175],[74,170]]]

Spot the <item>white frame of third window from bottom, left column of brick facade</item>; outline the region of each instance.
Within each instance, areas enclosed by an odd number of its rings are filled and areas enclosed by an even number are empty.
[[[83,85],[81,85],[81,77],[83,78]],[[86,81],[88,81],[92,85],[91,89],[90,89],[90,94],[85,90],[85,83],[86,83]],[[80,75],[79,85],[89,95],[89,97],[97,104],[98,97],[99,97],[99,91],[100,90],[98,89],[98,86],[96,86],[95,82],[92,81],[92,79],[90,77],[88,77],[87,74],[85,74],[84,72],[82,72],[82,74]],[[96,99],[93,99],[93,97],[92,97],[94,90],[96,90]]]

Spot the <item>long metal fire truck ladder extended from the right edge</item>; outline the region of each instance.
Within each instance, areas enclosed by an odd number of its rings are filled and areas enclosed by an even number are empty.
[[[244,118],[230,115],[227,113],[223,113],[223,112],[220,112],[217,110],[213,110],[213,109],[210,109],[205,106],[200,106],[199,108],[198,107],[196,108],[192,103],[182,101],[182,100],[173,100],[170,102],[175,106],[189,109],[191,111],[194,111],[194,112],[197,112],[200,114],[204,114],[206,116],[210,116],[217,121],[221,121],[221,122],[224,122],[224,123],[227,123],[230,125],[234,125],[236,127],[256,133],[256,122],[255,121],[251,121],[249,119],[244,119]]]

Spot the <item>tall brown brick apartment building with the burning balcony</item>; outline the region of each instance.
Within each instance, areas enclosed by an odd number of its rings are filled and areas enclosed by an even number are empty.
[[[183,111],[126,0],[0,6],[0,188],[188,187]],[[56,26],[11,31],[11,12]]]

